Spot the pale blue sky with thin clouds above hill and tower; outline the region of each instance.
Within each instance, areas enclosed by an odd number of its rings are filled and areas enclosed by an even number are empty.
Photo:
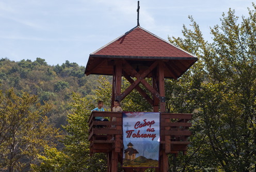
[[[168,40],[182,37],[188,15],[205,40],[229,8],[248,16],[253,0],[140,0],[139,24]],[[137,0],[0,0],[0,59],[45,59],[49,65],[75,62],[137,26]]]

